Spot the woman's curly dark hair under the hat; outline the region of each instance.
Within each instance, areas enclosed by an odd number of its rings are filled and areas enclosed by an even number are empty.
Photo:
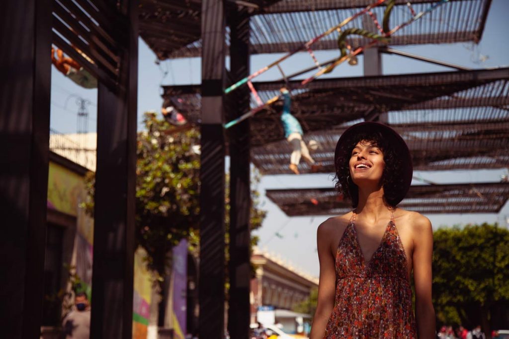
[[[384,203],[388,206],[395,207],[399,202],[401,190],[404,189],[404,176],[401,173],[402,159],[398,157],[398,149],[395,149],[393,143],[380,131],[365,131],[355,133],[345,140],[345,147],[340,150],[338,157],[335,159],[336,190],[343,194],[344,198],[350,199],[352,207],[356,208],[359,204],[359,188],[350,178],[349,162],[352,150],[359,141],[367,141],[372,145],[379,147],[383,153],[385,167],[380,179],[384,189]]]

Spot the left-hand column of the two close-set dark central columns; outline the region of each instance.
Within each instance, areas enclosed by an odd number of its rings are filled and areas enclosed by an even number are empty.
[[[202,1],[199,337],[224,337],[224,4]]]

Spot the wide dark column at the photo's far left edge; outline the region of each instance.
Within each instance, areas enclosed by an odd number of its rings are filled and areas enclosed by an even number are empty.
[[[0,11],[0,336],[38,338],[44,297],[51,1]]]

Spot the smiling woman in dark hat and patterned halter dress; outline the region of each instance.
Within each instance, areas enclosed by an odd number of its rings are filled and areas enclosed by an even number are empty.
[[[412,181],[405,141],[385,125],[361,122],[337,142],[335,168],[336,188],[353,211],[318,227],[320,283],[310,339],[435,338],[431,223],[396,207]]]

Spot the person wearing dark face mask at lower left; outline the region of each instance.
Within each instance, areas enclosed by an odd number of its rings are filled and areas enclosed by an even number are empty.
[[[74,296],[75,309],[62,321],[66,339],[89,339],[90,303],[86,293],[78,292]]]

